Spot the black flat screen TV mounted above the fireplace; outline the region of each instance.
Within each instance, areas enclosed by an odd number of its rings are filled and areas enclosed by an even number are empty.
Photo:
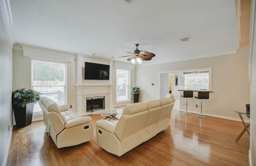
[[[85,62],[84,79],[109,80],[109,65]]]

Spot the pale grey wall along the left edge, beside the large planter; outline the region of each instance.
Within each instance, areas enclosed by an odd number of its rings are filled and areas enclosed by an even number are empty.
[[[4,166],[12,135],[12,44],[0,14],[0,165]]]

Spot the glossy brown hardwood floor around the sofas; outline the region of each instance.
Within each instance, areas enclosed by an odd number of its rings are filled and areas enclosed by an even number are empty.
[[[89,115],[95,122],[100,115]],[[200,119],[172,111],[170,126],[121,157],[91,141],[58,149],[43,121],[13,129],[7,166],[248,166],[249,136],[242,122]]]

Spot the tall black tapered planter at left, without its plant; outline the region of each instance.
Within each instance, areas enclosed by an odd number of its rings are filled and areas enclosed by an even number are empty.
[[[12,106],[17,127],[25,127],[31,124],[34,103],[26,104],[26,107]]]

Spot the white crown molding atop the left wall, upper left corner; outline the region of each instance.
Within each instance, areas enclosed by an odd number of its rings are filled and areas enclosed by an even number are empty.
[[[4,24],[7,30],[7,33],[9,34],[11,44],[13,45],[15,40],[15,33],[14,28],[12,24],[12,14],[10,9],[10,2],[9,0],[0,0],[0,10],[4,19]]]

